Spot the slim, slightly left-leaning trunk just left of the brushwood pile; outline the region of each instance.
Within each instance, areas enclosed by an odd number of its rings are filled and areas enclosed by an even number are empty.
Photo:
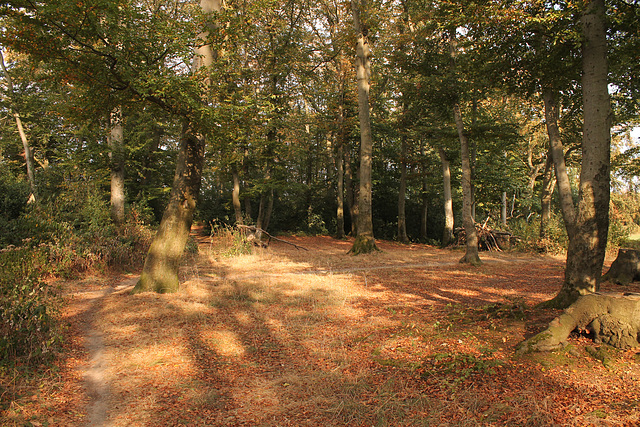
[[[462,263],[480,264],[478,256],[478,234],[476,233],[476,225],[473,220],[471,205],[471,164],[469,159],[469,140],[464,132],[464,123],[462,121],[462,112],[460,105],[455,103],[453,106],[453,115],[458,129],[458,137],[460,139],[460,159],[462,161],[462,223],[467,237],[466,253],[460,259]]]

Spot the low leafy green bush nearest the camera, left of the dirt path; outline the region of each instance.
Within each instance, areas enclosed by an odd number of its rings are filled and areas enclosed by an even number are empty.
[[[0,252],[0,365],[38,362],[61,343],[61,298],[41,279],[48,259],[46,247]]]

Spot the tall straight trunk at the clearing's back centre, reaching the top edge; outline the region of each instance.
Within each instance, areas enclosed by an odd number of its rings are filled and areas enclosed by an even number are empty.
[[[360,186],[358,191],[358,235],[349,250],[357,255],[377,250],[373,237],[373,217],[371,207],[371,168],[373,161],[373,141],[369,116],[370,51],[367,29],[360,22],[360,5],[352,0],[353,26],[357,37],[356,78],[358,81],[358,117],[360,119]]]

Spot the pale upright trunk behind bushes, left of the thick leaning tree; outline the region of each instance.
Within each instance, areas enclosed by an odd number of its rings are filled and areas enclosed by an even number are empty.
[[[115,108],[110,114],[109,160],[111,161],[111,220],[120,232],[124,224],[124,125],[122,109]]]

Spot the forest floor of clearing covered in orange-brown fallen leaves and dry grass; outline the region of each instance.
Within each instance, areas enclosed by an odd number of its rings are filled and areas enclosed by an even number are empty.
[[[221,256],[198,237],[171,295],[133,296],[126,274],[61,282],[65,351],[14,390],[2,424],[640,424],[638,349],[601,361],[576,335],[514,354],[558,314],[532,307],[559,290],[563,259],[491,252],[472,267],[426,245],[354,257],[350,240],[287,240],[308,251]]]

